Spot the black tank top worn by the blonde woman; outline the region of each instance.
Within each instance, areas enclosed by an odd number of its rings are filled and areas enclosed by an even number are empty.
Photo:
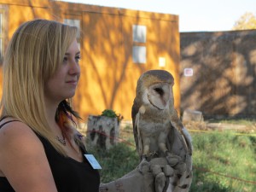
[[[12,120],[13,121],[13,120]],[[8,121],[6,123],[9,123]],[[4,123],[3,125],[5,125]],[[3,127],[0,125],[0,128]],[[99,172],[94,170],[84,157],[83,162],[73,160],[58,153],[44,138],[37,134],[44,145],[45,154],[58,192],[98,192],[100,185]],[[84,154],[86,151],[82,150]],[[38,176],[40,177],[40,176]],[[0,177],[1,192],[15,192],[6,177]]]

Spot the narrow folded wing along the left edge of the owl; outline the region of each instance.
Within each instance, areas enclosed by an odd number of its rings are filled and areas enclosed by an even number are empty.
[[[140,131],[138,127],[138,122],[140,119],[139,113],[140,105],[137,102],[137,99],[134,100],[132,108],[131,108],[131,118],[132,118],[132,126],[133,126],[133,136],[136,143],[137,152],[142,157],[143,155],[143,141],[142,137],[140,136]]]

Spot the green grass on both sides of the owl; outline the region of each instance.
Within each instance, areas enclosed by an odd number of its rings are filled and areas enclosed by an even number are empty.
[[[194,176],[190,191],[256,191],[256,137],[235,133],[191,133]],[[122,134],[121,137],[124,138]],[[125,140],[134,143],[132,137],[132,133],[125,131]],[[138,165],[135,147],[126,143],[119,143],[108,151],[99,148],[91,148],[90,151],[102,165],[102,183],[113,181]]]

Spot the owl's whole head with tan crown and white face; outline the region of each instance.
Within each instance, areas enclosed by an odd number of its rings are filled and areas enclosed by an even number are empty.
[[[143,103],[153,108],[163,110],[173,102],[172,74],[165,70],[150,70],[143,73],[137,81],[137,96],[141,96]]]

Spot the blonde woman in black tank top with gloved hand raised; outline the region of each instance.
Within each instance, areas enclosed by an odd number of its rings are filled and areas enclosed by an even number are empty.
[[[3,63],[0,191],[99,191],[99,173],[84,158],[75,129],[79,115],[69,104],[80,76],[76,33],[77,28],[53,20],[31,20],[9,42]],[[153,173],[145,167],[100,190],[153,190]]]

